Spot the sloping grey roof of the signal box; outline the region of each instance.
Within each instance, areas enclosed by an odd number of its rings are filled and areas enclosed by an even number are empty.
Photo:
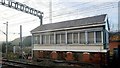
[[[60,29],[60,28],[79,27],[79,26],[92,25],[92,24],[101,24],[101,23],[104,23],[105,17],[106,17],[106,14],[102,14],[102,15],[92,16],[92,17],[87,17],[82,19],[44,24],[33,29],[31,32],[53,30],[53,29]]]

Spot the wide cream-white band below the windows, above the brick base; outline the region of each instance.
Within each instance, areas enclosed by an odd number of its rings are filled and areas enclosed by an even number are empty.
[[[103,49],[103,45],[100,46],[79,46],[79,45],[46,45],[46,46],[39,46],[35,45],[35,48],[33,50],[44,50],[44,51],[77,51],[77,52],[107,52],[107,49]],[[106,50],[106,51],[105,51]]]

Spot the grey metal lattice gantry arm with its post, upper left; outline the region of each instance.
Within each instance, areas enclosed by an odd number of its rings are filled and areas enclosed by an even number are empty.
[[[40,25],[42,25],[43,12],[37,9],[34,9],[32,7],[29,7],[25,4],[13,0],[0,0],[0,5],[39,17],[39,19],[41,20]]]

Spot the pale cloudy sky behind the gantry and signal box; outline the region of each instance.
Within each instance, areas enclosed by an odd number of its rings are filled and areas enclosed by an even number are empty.
[[[1,1],[1,0],[0,0]],[[8,1],[8,0],[6,0]],[[44,13],[43,24],[55,23],[65,20],[73,20],[108,14],[111,31],[118,28],[118,1],[119,0],[10,0],[17,1],[35,8]],[[51,1],[51,2],[50,2]],[[52,7],[50,9],[50,3]],[[50,10],[52,12],[50,12]],[[50,15],[51,13],[51,15]],[[52,20],[50,20],[52,18]],[[40,25],[40,20],[30,14],[17,11],[0,5],[0,41],[5,41],[8,22],[8,40],[12,41],[20,35],[22,25],[23,36],[31,35],[30,31]]]

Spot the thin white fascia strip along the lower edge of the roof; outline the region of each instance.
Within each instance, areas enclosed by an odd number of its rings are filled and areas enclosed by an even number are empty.
[[[87,28],[87,27],[94,27],[94,26],[102,26],[104,24],[97,24],[97,25],[87,25],[87,26],[78,26],[78,27],[70,27],[70,28],[61,28],[61,29],[53,29],[53,30],[44,30],[44,31],[36,31],[31,33],[39,33],[39,32],[49,32],[49,31],[58,31],[58,30],[68,30],[68,29],[77,29],[77,28]]]

